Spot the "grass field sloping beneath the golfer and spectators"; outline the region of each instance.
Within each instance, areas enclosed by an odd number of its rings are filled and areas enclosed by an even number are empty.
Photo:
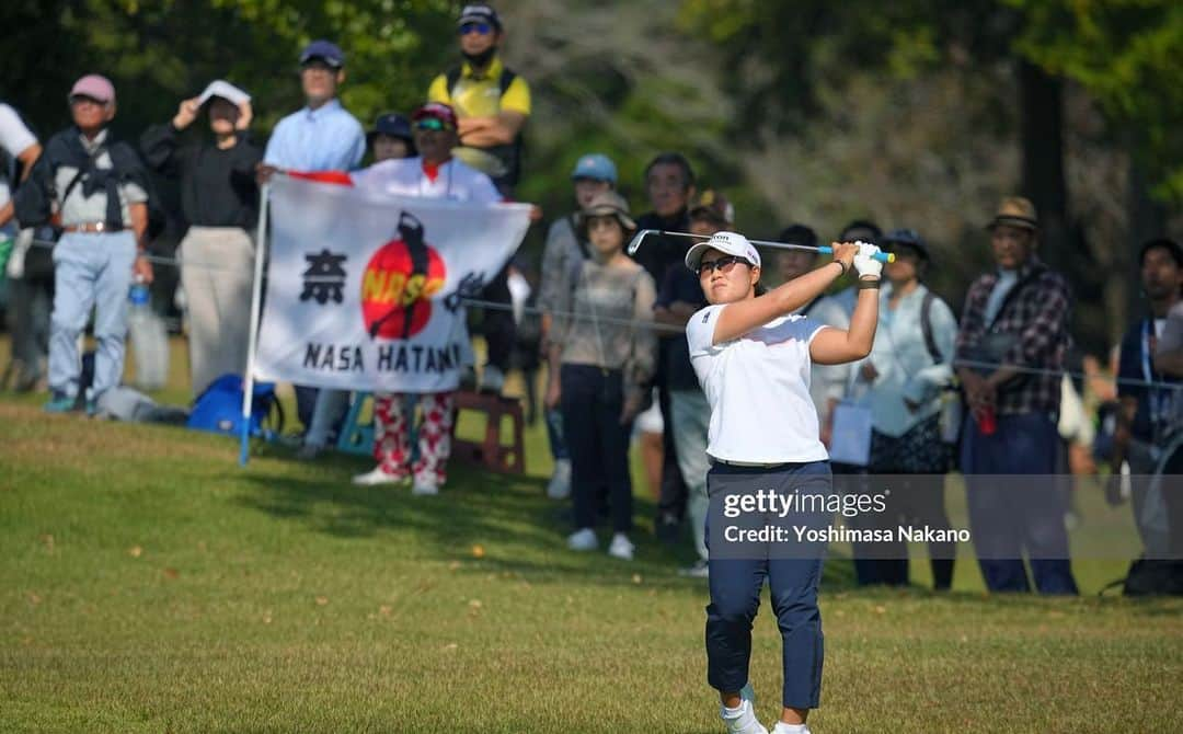
[[[0,398],[0,732],[722,730],[687,556],[642,497],[636,561],[568,553],[542,440],[530,476],[412,497],[350,487],[361,458],[244,470],[228,439]],[[988,598],[970,562],[944,597],[849,579],[828,564],[815,734],[1183,730],[1181,600]],[[767,603],[755,648],[771,721]]]

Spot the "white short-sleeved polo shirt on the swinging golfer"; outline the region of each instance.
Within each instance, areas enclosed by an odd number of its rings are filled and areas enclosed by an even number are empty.
[[[724,462],[781,464],[829,458],[809,397],[809,342],[826,324],[782,316],[739,339],[711,345],[719,313],[686,324],[690,363],[711,405],[706,453]]]

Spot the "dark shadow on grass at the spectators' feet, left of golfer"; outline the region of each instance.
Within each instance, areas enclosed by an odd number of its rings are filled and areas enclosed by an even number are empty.
[[[290,458],[289,452],[279,449],[260,453],[266,458]],[[406,485],[354,487],[344,477],[363,465],[349,457],[330,457],[315,469],[309,465],[312,476],[306,477],[252,472],[239,477],[251,489],[235,501],[342,539],[389,539],[401,546],[400,552],[413,558],[473,561],[473,548],[480,546],[479,562],[465,564],[465,569],[473,573],[523,574],[541,582],[577,575],[583,581],[605,585],[634,584],[634,575],[639,574],[649,588],[685,590],[693,594],[705,588],[705,581],[677,573],[679,566],[689,566],[696,558],[689,536],[678,548],[654,537],[647,521],[655,510],[651,498],[634,498],[635,516],[646,520],[632,534],[638,556],[629,564],[602,553],[569,552],[565,547],[569,503],[548,500],[541,478],[494,475],[453,464],[441,495],[416,497]],[[324,476],[332,476],[332,483],[325,482]],[[601,536],[607,533],[601,532]],[[840,555],[832,558],[826,564],[822,585],[827,591],[854,588],[853,562]]]

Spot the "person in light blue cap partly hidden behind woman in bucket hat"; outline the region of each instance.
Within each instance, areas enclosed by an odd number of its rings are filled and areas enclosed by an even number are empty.
[[[542,255],[542,279],[538,292],[538,308],[542,309],[543,356],[548,353],[548,335],[552,313],[558,303],[560,290],[564,276],[570,268],[577,266],[592,257],[587,242],[577,234],[580,212],[592,200],[616,186],[616,165],[602,153],[581,155],[571,169],[571,184],[575,192],[575,211],[550,224],[547,230],[547,242]],[[555,470],[547,484],[547,496],[562,500],[570,494],[571,459],[563,440],[563,417],[557,408],[547,410],[547,437],[550,443],[550,455],[555,461]]]

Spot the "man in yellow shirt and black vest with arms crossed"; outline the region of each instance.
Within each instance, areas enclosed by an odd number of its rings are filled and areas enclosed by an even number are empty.
[[[455,156],[484,172],[510,194],[521,173],[522,128],[530,117],[530,85],[498,53],[505,31],[487,5],[466,5],[457,22],[464,63],[439,75],[427,90],[460,120]]]

